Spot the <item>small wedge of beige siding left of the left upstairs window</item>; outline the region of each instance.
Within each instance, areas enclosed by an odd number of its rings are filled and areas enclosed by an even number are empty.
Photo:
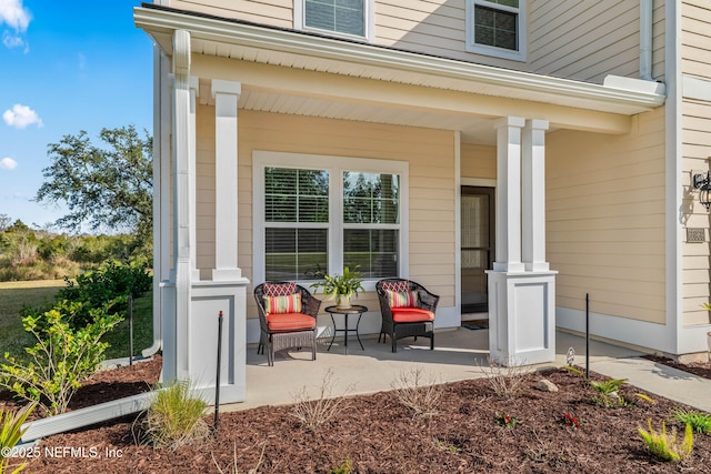
[[[293,28],[294,0],[170,0],[179,10],[253,21],[279,28]]]

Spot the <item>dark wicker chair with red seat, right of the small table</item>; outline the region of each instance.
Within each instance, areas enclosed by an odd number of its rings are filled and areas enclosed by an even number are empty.
[[[382,313],[382,325],[378,342],[382,336],[390,336],[392,352],[398,352],[397,341],[402,337],[418,336],[430,339],[430,350],[434,350],[434,312],[440,297],[430,293],[419,283],[402,279],[384,279],[375,283],[378,300],[380,300],[380,312]],[[393,301],[389,292],[415,292],[417,302],[412,305],[391,307]],[[412,303],[410,301],[410,303]]]

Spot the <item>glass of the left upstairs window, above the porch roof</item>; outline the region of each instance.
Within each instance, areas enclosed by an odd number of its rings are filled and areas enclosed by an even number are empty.
[[[306,26],[362,37],[363,0],[306,0]]]

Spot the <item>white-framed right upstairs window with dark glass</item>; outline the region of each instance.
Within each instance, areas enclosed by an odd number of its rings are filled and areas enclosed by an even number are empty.
[[[525,61],[525,0],[467,0],[467,51]]]

